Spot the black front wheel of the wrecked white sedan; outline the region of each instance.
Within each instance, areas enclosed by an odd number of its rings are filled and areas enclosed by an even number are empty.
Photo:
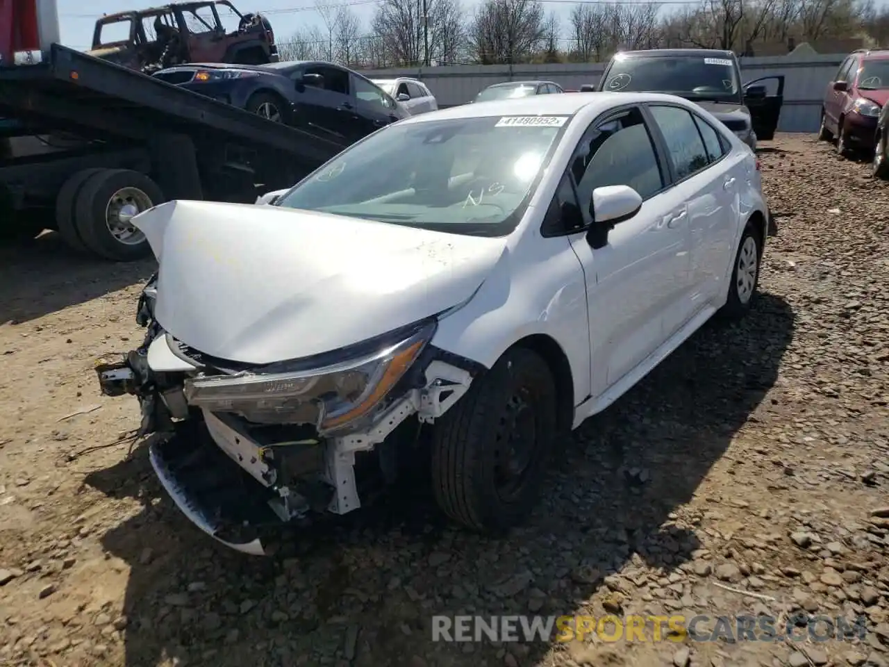
[[[449,517],[501,531],[533,509],[557,430],[556,383],[531,350],[508,350],[436,421],[432,485]]]

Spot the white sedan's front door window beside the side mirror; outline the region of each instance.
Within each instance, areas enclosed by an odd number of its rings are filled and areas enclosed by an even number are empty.
[[[594,189],[607,185],[629,185],[643,199],[664,187],[652,138],[637,108],[591,128],[570,168],[581,207],[589,205]]]

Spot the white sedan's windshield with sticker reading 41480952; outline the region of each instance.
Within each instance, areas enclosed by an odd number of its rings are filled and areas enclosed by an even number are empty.
[[[276,205],[503,236],[524,213],[567,121],[510,116],[391,125],[309,174]]]

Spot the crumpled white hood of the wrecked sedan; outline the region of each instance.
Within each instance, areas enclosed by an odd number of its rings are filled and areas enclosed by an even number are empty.
[[[133,218],[160,269],[155,315],[247,364],[337,350],[466,301],[506,247],[265,205],[173,201]]]

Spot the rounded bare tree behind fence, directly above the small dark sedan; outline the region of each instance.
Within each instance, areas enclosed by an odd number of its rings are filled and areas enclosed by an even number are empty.
[[[543,6],[536,0],[485,0],[469,27],[469,42],[484,65],[524,62],[545,34]]]

